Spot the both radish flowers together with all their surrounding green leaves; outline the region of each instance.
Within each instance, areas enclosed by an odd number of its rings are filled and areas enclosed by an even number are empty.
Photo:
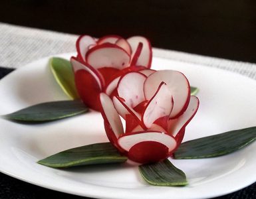
[[[67,149],[39,164],[68,168],[130,159],[140,164],[140,174],[149,184],[185,186],[186,174],[170,160],[219,157],[255,141],[256,127],[249,127],[182,143],[186,126],[199,108],[199,90],[181,72],[150,69],[152,47],[147,38],[83,35],[76,50],[70,61],[49,61],[70,100],[40,103],[3,117],[29,125],[93,109],[102,114],[110,142]]]

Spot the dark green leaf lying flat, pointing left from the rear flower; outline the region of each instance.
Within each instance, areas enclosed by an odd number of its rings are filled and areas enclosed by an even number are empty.
[[[80,100],[51,101],[32,105],[2,117],[17,121],[43,122],[72,117],[87,111],[88,108]]]

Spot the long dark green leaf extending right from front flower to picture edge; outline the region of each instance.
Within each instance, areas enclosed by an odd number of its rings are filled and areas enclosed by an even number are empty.
[[[249,145],[256,139],[256,127],[229,131],[182,143],[175,159],[203,159],[227,155]]]

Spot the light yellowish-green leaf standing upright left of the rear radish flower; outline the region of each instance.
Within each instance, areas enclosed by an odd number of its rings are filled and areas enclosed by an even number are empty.
[[[49,64],[55,80],[61,86],[64,93],[71,99],[78,99],[74,84],[74,72],[70,62],[63,58],[53,57],[50,59]]]

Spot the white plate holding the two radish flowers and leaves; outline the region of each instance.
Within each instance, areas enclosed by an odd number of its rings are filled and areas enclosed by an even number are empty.
[[[63,57],[69,58],[70,54]],[[0,114],[43,101],[65,100],[44,58],[0,81]],[[186,140],[256,125],[256,82],[225,70],[163,58],[153,68],[184,72],[200,89],[197,115]],[[0,170],[39,186],[95,198],[209,198],[239,190],[256,180],[256,143],[213,159],[172,160],[186,172],[186,187],[150,186],[136,166],[88,166],[59,170],[36,162],[53,153],[107,141],[102,117],[94,111],[45,124],[24,125],[0,119]]]

